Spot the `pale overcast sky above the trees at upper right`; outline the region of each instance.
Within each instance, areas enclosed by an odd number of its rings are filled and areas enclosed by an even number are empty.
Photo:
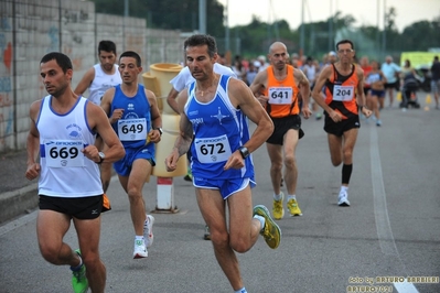
[[[253,14],[260,21],[273,22],[286,20],[290,29],[297,30],[301,24],[302,0],[218,0],[229,4],[229,26],[248,24]],[[399,32],[405,26],[421,20],[432,21],[440,17],[440,0],[304,0],[304,22],[325,21],[331,14],[341,11],[343,15],[352,14],[356,26],[377,25],[377,7],[379,7],[379,28],[384,26],[384,2],[387,8],[397,10],[396,25]],[[271,3],[271,4],[270,4]]]

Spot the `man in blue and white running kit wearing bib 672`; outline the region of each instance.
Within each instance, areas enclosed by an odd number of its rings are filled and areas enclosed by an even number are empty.
[[[194,138],[193,184],[215,257],[235,292],[246,292],[234,251],[248,251],[259,234],[272,249],[281,239],[281,230],[267,208],[251,208],[250,187],[255,181],[250,153],[270,137],[273,124],[245,83],[214,73],[218,57],[214,37],[192,35],[184,48],[195,83],[179,94],[181,134],[165,159],[167,170],[176,169],[179,158],[189,151]],[[247,119],[257,126],[253,135]]]

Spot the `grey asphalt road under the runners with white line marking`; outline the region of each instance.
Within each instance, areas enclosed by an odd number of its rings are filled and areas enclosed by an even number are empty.
[[[277,250],[260,238],[238,256],[248,292],[362,292],[368,285],[382,290],[376,292],[440,292],[440,111],[432,105],[423,110],[423,98],[421,109],[383,110],[383,127],[362,121],[351,207],[336,205],[341,167],[331,165],[323,121],[303,121],[305,137],[297,150],[297,198],[303,216],[279,221],[282,240]],[[265,146],[254,161],[254,203],[271,208]],[[154,210],[155,177],[143,191],[149,210]],[[153,214],[154,243],[141,260],[132,259],[129,205],[117,181],[108,195],[112,210],[103,215],[100,243],[106,292],[233,292],[211,242],[203,240],[204,224],[190,183],[174,178],[180,211]],[[40,256],[35,218],[33,211],[0,226],[0,292],[72,292],[68,268]],[[65,241],[77,247],[72,228]],[[430,279],[403,282],[407,276]]]

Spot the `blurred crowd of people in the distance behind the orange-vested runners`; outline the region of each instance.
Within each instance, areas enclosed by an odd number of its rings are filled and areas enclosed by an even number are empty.
[[[288,58],[288,64],[301,69],[305,74],[310,82],[310,89],[313,90],[319,74],[325,66],[336,62],[337,54],[331,51],[319,59],[314,56],[300,55],[293,52]],[[223,62],[226,65],[225,58]],[[393,56],[389,55],[385,57],[383,63],[378,59],[369,59],[368,56],[359,58],[355,56],[354,63],[364,70],[364,94],[367,107],[373,110],[371,119],[361,117],[365,119],[366,123],[373,120],[377,127],[380,127],[383,124],[380,111],[385,108],[385,105],[387,105],[387,109],[398,107],[403,111],[406,111],[408,107],[420,107],[420,104],[417,101],[417,90],[420,89],[420,84],[426,77],[411,66],[409,59],[403,61],[404,66],[399,66],[394,62]],[[245,58],[236,55],[232,64],[230,68],[247,85],[251,85],[256,75],[269,66],[264,55],[255,58]],[[432,94],[434,109],[440,109],[440,62],[438,56],[434,57],[432,66],[428,68],[428,76],[430,82],[427,82],[427,88]],[[399,105],[396,106],[396,101]],[[322,110],[312,99],[310,104],[314,118],[320,120],[323,115]]]

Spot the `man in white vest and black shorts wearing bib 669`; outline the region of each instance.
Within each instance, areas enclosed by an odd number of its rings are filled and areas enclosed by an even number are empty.
[[[104,196],[98,164],[120,160],[125,150],[103,109],[72,91],[73,68],[66,55],[46,54],[40,75],[49,96],[34,101],[29,112],[25,173],[28,180],[40,176],[40,252],[50,263],[71,267],[74,292],[90,287],[104,293],[106,268],[99,258]],[[94,145],[97,133],[108,145],[105,153]],[[79,243],[75,251],[63,239],[71,221]]]

